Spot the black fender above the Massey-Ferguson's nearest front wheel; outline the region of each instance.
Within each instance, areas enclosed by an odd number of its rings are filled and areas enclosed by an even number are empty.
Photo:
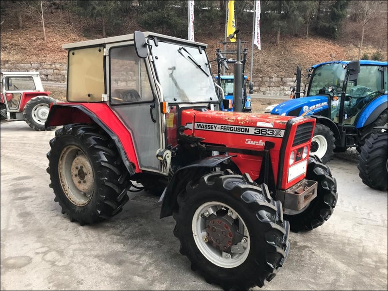
[[[160,218],[173,214],[173,210],[178,207],[177,196],[182,190],[186,188],[188,182],[205,175],[211,168],[232,157],[236,157],[236,155],[211,156],[185,167],[179,168],[174,173],[174,176],[171,178],[160,198],[160,200],[162,200]]]

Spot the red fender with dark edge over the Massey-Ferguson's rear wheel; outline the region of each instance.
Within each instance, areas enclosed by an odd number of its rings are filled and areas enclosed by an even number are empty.
[[[112,138],[130,176],[142,172],[130,130],[106,103],[57,103],[50,106],[46,128],[71,123],[97,124]]]

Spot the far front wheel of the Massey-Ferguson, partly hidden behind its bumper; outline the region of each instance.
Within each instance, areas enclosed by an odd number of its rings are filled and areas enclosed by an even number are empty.
[[[337,181],[332,177],[327,165],[315,157],[309,157],[306,179],[318,182],[317,197],[300,211],[284,211],[284,219],[290,222],[294,232],[322,226],[330,218],[337,204]]]

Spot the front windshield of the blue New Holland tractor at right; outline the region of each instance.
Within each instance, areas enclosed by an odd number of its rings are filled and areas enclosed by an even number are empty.
[[[317,67],[311,76],[311,85],[307,96],[328,94],[329,86],[332,86],[333,92],[341,92],[345,73],[346,70],[342,64],[332,63]]]

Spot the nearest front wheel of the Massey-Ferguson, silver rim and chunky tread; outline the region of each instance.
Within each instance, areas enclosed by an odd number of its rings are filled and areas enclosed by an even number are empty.
[[[265,184],[213,172],[189,182],[177,201],[180,253],[208,283],[226,290],[262,287],[283,265],[289,223]]]

